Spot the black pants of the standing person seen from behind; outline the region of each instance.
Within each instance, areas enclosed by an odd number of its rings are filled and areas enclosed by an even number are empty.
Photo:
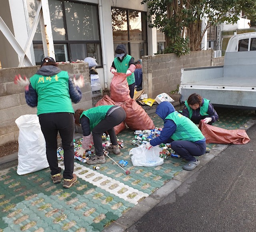
[[[38,115],[42,132],[46,141],[46,157],[51,175],[61,173],[57,159],[57,134],[60,133],[64,150],[63,177],[73,178],[74,171],[74,115],[72,113],[46,113]]]

